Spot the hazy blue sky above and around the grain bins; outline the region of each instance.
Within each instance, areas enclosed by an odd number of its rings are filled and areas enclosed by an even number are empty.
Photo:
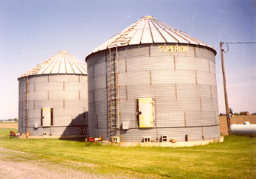
[[[0,119],[18,118],[18,77],[60,50],[80,60],[151,15],[217,50],[218,107],[225,113],[219,44],[256,41],[256,2],[248,0],[0,0]],[[225,51],[227,46],[224,45]],[[256,43],[224,54],[229,108],[256,112]]]

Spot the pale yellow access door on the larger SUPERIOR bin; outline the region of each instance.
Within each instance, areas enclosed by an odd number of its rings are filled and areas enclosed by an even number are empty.
[[[139,98],[139,128],[152,128],[154,121],[154,102],[152,98]]]

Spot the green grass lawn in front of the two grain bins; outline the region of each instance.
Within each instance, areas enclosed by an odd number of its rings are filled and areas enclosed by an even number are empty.
[[[26,160],[63,164],[103,175],[133,178],[256,176],[255,138],[240,136],[225,136],[223,143],[178,148],[115,147],[59,139],[1,136],[0,146],[32,154]],[[17,160],[17,156],[14,159]]]

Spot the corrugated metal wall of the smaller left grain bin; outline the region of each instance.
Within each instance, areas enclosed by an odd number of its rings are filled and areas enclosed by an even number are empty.
[[[27,117],[24,110],[24,77],[19,79],[18,131],[42,136],[77,136],[88,134],[88,92],[86,75],[49,74],[28,78]],[[51,127],[41,126],[41,109],[53,109]],[[27,120],[27,124],[25,124]],[[38,128],[34,125],[38,124]],[[25,126],[27,125],[27,126]]]

